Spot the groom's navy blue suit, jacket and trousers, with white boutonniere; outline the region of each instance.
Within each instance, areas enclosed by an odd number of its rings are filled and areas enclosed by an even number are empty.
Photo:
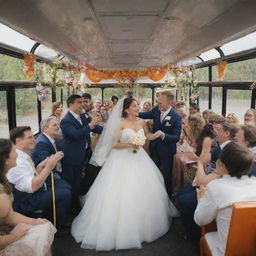
[[[150,141],[149,152],[150,157],[163,174],[166,190],[170,195],[173,155],[176,153],[176,143],[180,139],[182,122],[180,115],[173,108],[162,123],[160,121],[160,114],[159,108],[155,107],[149,112],[139,113],[139,117],[153,119],[152,133],[158,130],[165,133],[164,139],[157,138]]]

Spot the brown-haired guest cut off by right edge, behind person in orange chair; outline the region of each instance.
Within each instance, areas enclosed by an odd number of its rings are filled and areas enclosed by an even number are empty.
[[[235,137],[237,143],[247,147],[253,154],[256,160],[256,127],[253,125],[242,126]],[[256,161],[253,162],[251,175],[256,176]]]

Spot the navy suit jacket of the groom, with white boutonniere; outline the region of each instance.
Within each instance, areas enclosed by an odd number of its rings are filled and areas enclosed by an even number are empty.
[[[150,141],[149,150],[152,152],[156,149],[166,156],[174,155],[176,153],[176,143],[180,139],[182,127],[181,117],[173,108],[169,111],[162,123],[160,121],[160,115],[161,112],[157,106],[149,112],[139,113],[140,118],[153,119],[152,133],[155,133],[157,130],[165,133],[163,140],[162,138],[158,138]]]

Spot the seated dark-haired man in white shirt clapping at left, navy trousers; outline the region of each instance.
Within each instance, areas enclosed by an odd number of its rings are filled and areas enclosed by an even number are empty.
[[[36,210],[47,211],[52,207],[52,187],[46,182],[47,177],[63,157],[62,152],[42,161],[37,169],[29,155],[34,148],[34,136],[29,126],[21,126],[10,131],[11,141],[16,146],[18,154],[17,166],[7,174],[13,185],[13,208],[19,213],[29,215]],[[55,200],[57,210],[57,224],[64,226],[68,217],[71,191],[62,182],[55,184]]]

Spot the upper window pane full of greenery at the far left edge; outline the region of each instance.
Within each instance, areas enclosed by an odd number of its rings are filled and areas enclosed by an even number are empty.
[[[25,80],[23,60],[0,54],[0,80]]]

